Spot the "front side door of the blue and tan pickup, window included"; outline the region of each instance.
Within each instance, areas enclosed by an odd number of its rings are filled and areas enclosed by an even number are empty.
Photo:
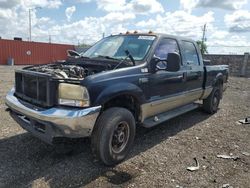
[[[175,39],[163,38],[156,50],[155,56],[160,59],[167,59],[168,53],[177,52],[180,54],[178,43]],[[151,110],[148,117],[171,110],[182,105],[182,97],[186,91],[184,79],[185,70],[169,72],[167,70],[156,70],[151,73],[149,82],[149,101]]]

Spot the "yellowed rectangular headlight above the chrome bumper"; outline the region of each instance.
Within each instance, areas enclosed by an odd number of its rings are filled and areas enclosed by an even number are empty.
[[[83,86],[61,83],[58,88],[58,103],[66,106],[88,107],[88,90]]]

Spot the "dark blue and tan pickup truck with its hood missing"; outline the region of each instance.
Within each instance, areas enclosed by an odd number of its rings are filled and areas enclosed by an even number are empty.
[[[171,35],[113,35],[73,54],[17,70],[6,104],[47,143],[91,137],[94,156],[106,165],[125,159],[136,126],[158,125],[199,100],[215,113],[228,80],[228,66],[204,66],[196,42]]]

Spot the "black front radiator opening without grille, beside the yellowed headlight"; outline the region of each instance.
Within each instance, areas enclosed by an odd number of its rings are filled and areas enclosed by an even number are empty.
[[[15,95],[32,104],[50,107],[55,104],[55,82],[46,74],[32,71],[16,71]]]

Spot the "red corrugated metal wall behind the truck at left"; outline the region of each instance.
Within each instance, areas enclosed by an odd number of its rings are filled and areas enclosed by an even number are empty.
[[[67,50],[73,45],[27,42],[0,39],[0,65],[7,65],[8,58],[15,65],[46,64],[67,58]]]

